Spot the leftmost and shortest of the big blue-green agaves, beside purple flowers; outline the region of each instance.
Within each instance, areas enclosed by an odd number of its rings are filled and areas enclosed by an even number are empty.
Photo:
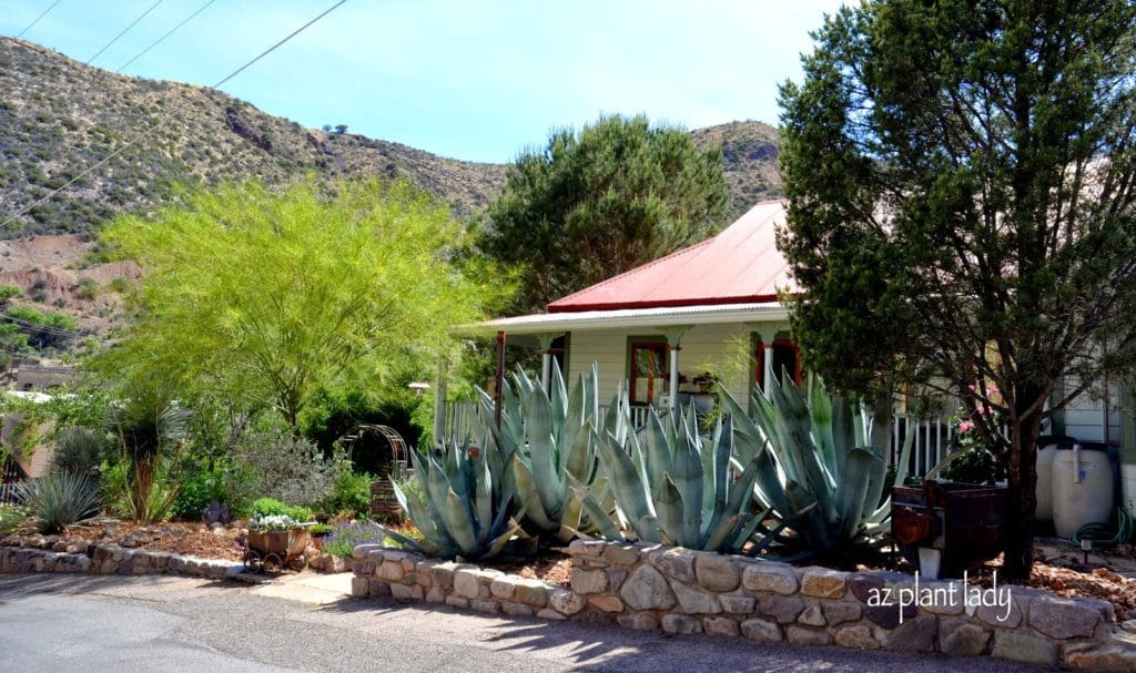
[[[403,547],[431,556],[470,561],[495,556],[520,531],[512,519],[513,489],[504,479],[511,453],[492,441],[481,447],[451,441],[437,453],[410,452],[420,490],[403,490],[392,480],[399,505],[423,537],[383,531]]]

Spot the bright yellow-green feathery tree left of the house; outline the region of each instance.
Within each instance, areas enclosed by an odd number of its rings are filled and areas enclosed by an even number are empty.
[[[252,182],[124,216],[103,239],[143,268],[139,316],[92,360],[108,378],[169,381],[278,410],[343,389],[376,395],[408,361],[427,371],[454,325],[483,319],[510,276],[459,262],[453,216],[406,183]]]

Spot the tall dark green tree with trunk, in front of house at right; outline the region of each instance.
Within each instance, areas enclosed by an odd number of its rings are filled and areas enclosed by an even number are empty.
[[[780,93],[804,357],[961,398],[1027,577],[1042,421],[1136,362],[1136,7],[867,0],[815,37]]]

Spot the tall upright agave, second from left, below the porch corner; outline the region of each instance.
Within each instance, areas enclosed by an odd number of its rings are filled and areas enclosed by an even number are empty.
[[[520,368],[515,386],[502,386],[501,427],[487,430],[502,451],[512,455],[517,498],[533,532],[567,542],[577,532],[598,532],[583,513],[575,485],[591,485],[596,473],[592,427],[599,417],[595,392],[599,371],[593,364],[569,394],[559,365],[553,365],[551,394]],[[478,389],[483,418],[493,417],[493,398]]]

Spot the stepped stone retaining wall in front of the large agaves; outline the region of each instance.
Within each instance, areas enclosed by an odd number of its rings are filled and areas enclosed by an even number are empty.
[[[645,544],[577,540],[569,554],[570,589],[362,545],[352,595],[669,633],[1136,671],[1136,638],[1117,630],[1112,605],[1102,600],[1000,587],[985,595],[992,605],[978,605],[983,595],[941,581],[919,583],[927,605],[901,609],[900,590],[916,587],[900,573],[795,567]]]

